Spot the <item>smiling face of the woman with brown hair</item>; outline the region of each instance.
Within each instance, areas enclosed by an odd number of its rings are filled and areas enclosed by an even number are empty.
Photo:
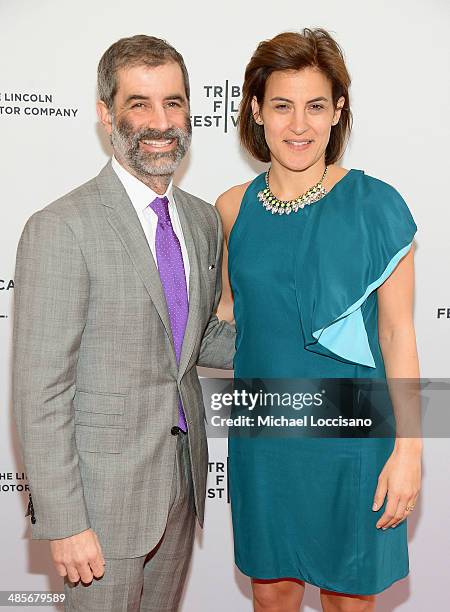
[[[345,100],[333,106],[331,83],[315,68],[273,72],[266,81],[262,107],[253,116],[264,125],[272,163],[300,171],[324,163],[331,126],[339,121]]]

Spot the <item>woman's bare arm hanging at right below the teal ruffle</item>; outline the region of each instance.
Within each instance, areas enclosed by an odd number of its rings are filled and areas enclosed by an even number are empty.
[[[378,289],[379,342],[397,426],[394,450],[379,476],[374,499],[373,509],[378,510],[388,496],[377,522],[383,529],[395,527],[409,515],[406,508],[415,504],[420,489],[420,374],[413,296],[414,245]]]

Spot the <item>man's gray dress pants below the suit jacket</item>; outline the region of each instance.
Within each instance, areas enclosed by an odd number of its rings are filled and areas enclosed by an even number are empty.
[[[105,558],[105,573],[89,585],[65,578],[66,612],[176,612],[195,533],[194,493],[187,434],[180,432],[167,526],[143,557]]]

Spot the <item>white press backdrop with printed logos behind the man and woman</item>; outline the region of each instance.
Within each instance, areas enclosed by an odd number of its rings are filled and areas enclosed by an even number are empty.
[[[94,107],[101,54],[137,33],[166,38],[183,54],[194,131],[178,184],[214,202],[262,168],[242,154],[233,125],[251,53],[260,40],[305,26],[335,34],[352,75],[355,122],[343,165],[393,184],[413,212],[421,372],[450,377],[447,2],[0,0],[0,590],[62,590],[47,543],[30,542],[23,516],[26,480],[10,401],[13,275],[27,218],[97,174],[110,154]],[[197,534],[182,609],[244,612],[250,587],[233,565],[226,491],[221,498],[216,478],[225,441],[210,440],[210,455],[206,528]],[[425,441],[422,495],[409,520],[411,573],[379,596],[379,610],[441,610],[448,602],[449,460],[448,440]],[[310,586],[304,610],[320,609]]]

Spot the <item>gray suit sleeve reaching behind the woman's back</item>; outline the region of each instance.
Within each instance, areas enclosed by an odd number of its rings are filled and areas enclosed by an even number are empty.
[[[223,230],[222,221],[217,210],[212,207],[217,222],[217,251],[216,251],[216,290],[214,297],[213,314],[208,321],[200,345],[197,365],[206,368],[233,369],[235,353],[236,329],[227,321],[219,321],[217,307],[222,293],[222,254]]]

